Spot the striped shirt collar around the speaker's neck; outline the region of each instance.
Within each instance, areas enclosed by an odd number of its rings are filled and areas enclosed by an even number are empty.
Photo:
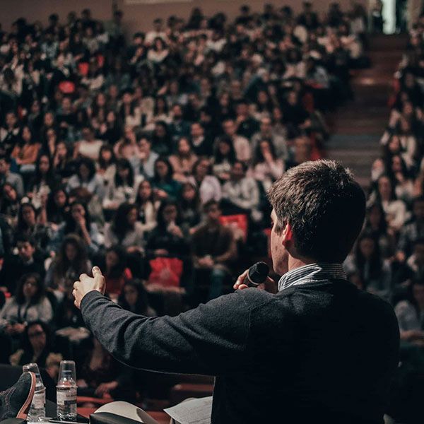
[[[291,285],[317,283],[330,279],[346,280],[342,264],[308,264],[285,273],[278,281],[278,291]]]

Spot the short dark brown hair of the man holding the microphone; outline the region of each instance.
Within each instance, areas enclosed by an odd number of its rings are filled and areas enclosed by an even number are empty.
[[[341,263],[365,218],[365,194],[352,173],[333,160],[291,168],[269,190],[277,231],[289,223],[302,257]]]

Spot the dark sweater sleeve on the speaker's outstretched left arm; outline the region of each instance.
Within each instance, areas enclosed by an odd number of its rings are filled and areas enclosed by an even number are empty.
[[[246,349],[249,307],[237,292],[177,317],[148,318],[93,291],[84,296],[81,312],[102,346],[132,367],[220,375],[245,369],[252,360]]]

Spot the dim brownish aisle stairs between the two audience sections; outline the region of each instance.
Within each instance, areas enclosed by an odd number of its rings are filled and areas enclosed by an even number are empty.
[[[354,100],[328,116],[333,136],[326,144],[326,157],[350,167],[365,189],[372,162],[380,153],[379,139],[389,122],[387,102],[406,42],[405,35],[370,36],[371,67],[353,77]]]

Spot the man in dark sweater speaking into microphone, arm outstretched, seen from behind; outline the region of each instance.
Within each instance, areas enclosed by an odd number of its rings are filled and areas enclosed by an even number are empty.
[[[123,363],[215,375],[213,424],[380,424],[398,364],[391,306],[346,281],[342,262],[362,228],[365,196],[351,173],[320,160],[273,184],[271,254],[278,292],[247,288],[177,317],[148,318],[107,300],[93,269],[76,306]],[[267,281],[271,286],[271,280]]]

